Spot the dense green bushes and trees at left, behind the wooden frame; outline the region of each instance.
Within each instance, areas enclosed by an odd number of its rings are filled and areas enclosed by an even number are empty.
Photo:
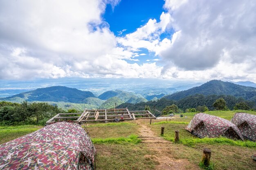
[[[68,112],[76,111],[72,109]],[[0,125],[45,125],[45,122],[57,113],[65,113],[65,111],[45,102],[21,104],[0,102]]]

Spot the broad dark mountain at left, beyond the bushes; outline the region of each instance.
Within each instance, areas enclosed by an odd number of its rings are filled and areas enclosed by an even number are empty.
[[[52,86],[47,88],[38,88],[33,91],[13,95],[11,97],[0,98],[0,100],[10,102],[40,101],[85,103],[88,97],[96,98],[90,91],[80,91],[76,88],[69,88],[65,86]]]

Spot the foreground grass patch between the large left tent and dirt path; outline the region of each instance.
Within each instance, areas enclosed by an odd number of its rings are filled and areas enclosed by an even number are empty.
[[[97,170],[154,170],[156,153],[145,144],[95,144]]]

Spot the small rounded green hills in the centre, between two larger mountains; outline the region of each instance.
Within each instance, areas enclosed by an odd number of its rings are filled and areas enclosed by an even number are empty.
[[[107,99],[110,99],[111,97],[118,97],[119,99],[121,99],[121,101],[132,103],[132,104],[147,101],[147,99],[145,99],[144,97],[140,97],[135,93],[126,92],[126,91],[106,91],[101,95],[99,95],[98,98],[102,100],[107,100]]]

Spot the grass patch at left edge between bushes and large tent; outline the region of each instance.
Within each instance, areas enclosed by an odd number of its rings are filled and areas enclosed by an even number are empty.
[[[0,126],[0,144],[34,132],[43,126]]]

